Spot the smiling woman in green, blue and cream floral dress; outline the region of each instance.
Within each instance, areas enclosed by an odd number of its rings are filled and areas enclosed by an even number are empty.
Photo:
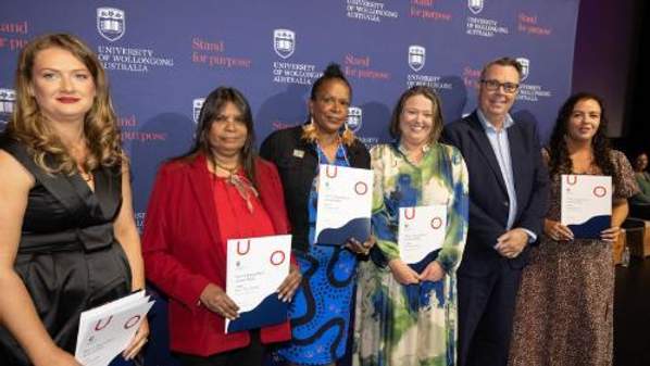
[[[430,88],[413,87],[393,111],[396,141],[371,151],[372,222],[382,255],[360,265],[354,365],[455,364],[455,268],[467,232],[467,172],[460,151],[437,141],[441,129],[440,100]],[[397,242],[399,209],[434,204],[447,207],[442,247],[407,264]]]

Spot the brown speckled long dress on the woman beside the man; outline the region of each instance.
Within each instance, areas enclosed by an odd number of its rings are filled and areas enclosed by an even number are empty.
[[[546,152],[546,151],[545,151]],[[545,156],[548,161],[548,154]],[[613,200],[636,193],[629,162],[612,151]],[[597,175],[592,166],[586,174]],[[560,220],[560,175],[551,177],[547,217]],[[613,352],[612,244],[554,241],[541,235],[530,250],[517,295],[510,366],[610,366]]]

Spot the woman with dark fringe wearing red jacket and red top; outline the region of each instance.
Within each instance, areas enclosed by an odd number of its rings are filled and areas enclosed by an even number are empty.
[[[165,163],[145,225],[147,278],[170,298],[171,349],[184,365],[260,365],[264,345],[290,338],[289,323],[224,333],[237,317],[225,293],[226,241],[287,234],[275,166],[254,154],[250,106],[236,89],[205,99],[193,148]],[[300,273],[278,289],[289,301]]]

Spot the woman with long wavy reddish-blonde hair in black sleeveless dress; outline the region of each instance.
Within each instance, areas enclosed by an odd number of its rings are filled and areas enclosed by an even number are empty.
[[[46,35],[23,49],[0,172],[2,365],[78,365],[79,314],[145,278],[107,78],[76,37]],[[142,321],[125,358],[148,333]]]

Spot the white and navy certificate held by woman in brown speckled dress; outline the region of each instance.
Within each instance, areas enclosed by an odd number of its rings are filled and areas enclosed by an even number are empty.
[[[562,175],[561,223],[574,238],[599,239],[612,222],[612,177]]]

